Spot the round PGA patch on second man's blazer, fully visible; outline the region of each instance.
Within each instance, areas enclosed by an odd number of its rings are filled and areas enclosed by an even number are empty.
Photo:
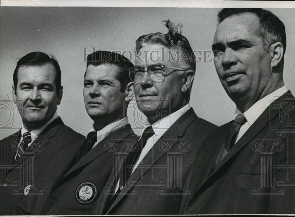
[[[75,196],[81,204],[91,203],[97,195],[96,186],[91,182],[83,182],[78,185]]]

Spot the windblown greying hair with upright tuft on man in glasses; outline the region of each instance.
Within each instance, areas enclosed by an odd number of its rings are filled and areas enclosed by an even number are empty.
[[[196,70],[196,61],[193,50],[191,49],[191,45],[189,41],[182,34],[182,25],[171,23],[170,20],[164,20],[165,26],[168,29],[168,33],[150,33],[148,35],[142,35],[136,40],[135,50],[137,54],[139,50],[145,44],[160,44],[167,48],[174,48],[176,51],[181,51],[183,55],[183,62],[187,69],[191,69],[195,72]],[[183,71],[182,71],[183,72]],[[181,73],[182,73],[181,72]]]

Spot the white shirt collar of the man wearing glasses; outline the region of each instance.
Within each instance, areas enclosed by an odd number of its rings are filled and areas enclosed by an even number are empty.
[[[172,126],[172,124],[174,124],[176,122],[176,120],[178,118],[180,118],[184,113],[186,113],[186,111],[188,111],[190,108],[191,108],[191,106],[188,103],[185,106],[183,106],[182,108],[178,109],[177,111],[175,111],[175,112],[161,118],[157,122],[153,123],[152,128],[153,128],[153,131],[155,132],[155,135],[162,136],[167,131],[167,129],[169,129]],[[147,120],[146,124],[145,124],[145,128],[148,126],[150,126],[150,123]],[[143,133],[143,131],[142,131],[142,133]]]

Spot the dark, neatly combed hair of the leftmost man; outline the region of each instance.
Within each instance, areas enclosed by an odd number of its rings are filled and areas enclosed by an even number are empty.
[[[51,55],[50,55],[51,56]],[[22,66],[43,66],[47,63],[50,63],[53,65],[55,69],[55,86],[58,93],[58,90],[61,86],[61,72],[60,67],[58,65],[58,62],[53,56],[48,56],[47,54],[44,54],[40,51],[31,52],[29,54],[24,55],[19,61],[17,61],[17,67],[14,69],[13,72],[13,85],[15,91],[17,90],[17,72],[20,67]]]

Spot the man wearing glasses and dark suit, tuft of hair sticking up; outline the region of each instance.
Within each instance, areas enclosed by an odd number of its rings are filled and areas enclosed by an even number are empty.
[[[183,198],[190,194],[183,183],[196,151],[216,128],[197,117],[189,105],[194,54],[178,33],[179,26],[168,20],[166,27],[167,34],[151,33],[136,41],[138,61],[129,75],[137,106],[148,122],[142,127],[137,154],[130,151],[128,163],[123,162],[120,170],[114,167],[93,209],[95,215],[178,214]],[[169,61],[169,55],[176,53],[181,60]]]

